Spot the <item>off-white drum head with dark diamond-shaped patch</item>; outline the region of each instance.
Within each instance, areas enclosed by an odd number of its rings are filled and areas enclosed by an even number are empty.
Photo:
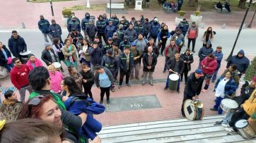
[[[191,104],[190,99],[185,100],[184,102],[184,113],[185,116],[188,120],[194,120],[194,116],[195,116],[195,107],[194,104]]]

